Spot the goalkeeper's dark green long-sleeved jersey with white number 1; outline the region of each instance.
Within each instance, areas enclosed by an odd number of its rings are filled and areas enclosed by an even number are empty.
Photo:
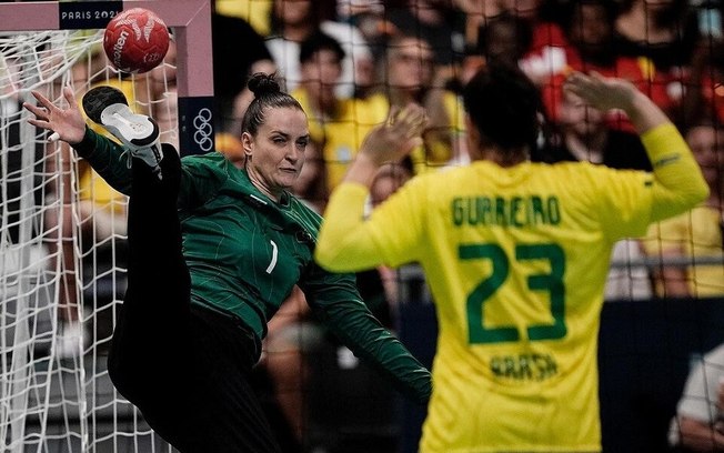
[[[87,129],[76,149],[109,184],[130,194],[123,147]],[[220,153],[181,160],[178,207],[191,303],[240,318],[261,340],[296,284],[356,355],[371,359],[400,390],[426,400],[430,373],[372,316],[354,274],[315,264],[319,214],[289,193],[280,202],[269,199]]]

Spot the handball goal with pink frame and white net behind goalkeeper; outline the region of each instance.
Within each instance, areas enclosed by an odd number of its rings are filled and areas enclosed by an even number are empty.
[[[105,23],[148,8],[173,33],[151,72],[102,51]],[[0,451],[170,452],[105,368],[125,288],[125,205],[67,145],[28,124],[39,90],[62,103],[120,88],[182,154],[213,143],[208,0],[0,3]],[[202,139],[202,140],[200,140]]]

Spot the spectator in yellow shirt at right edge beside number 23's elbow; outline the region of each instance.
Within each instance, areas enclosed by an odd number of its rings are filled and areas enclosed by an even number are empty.
[[[690,212],[653,224],[646,251],[663,263],[656,268],[660,295],[670,298],[712,298],[724,295],[722,233],[724,230],[724,130],[716,122],[701,121],[690,127],[685,139],[702,169],[710,197]],[[693,265],[666,260],[684,259]],[[718,263],[701,263],[702,260]]]

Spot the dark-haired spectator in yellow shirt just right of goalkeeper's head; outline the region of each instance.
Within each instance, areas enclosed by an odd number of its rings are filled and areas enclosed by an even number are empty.
[[[344,50],[333,37],[315,32],[300,46],[300,85],[292,91],[309,119],[312,141],[321,148],[324,197],[346,172],[366,133],[388,115],[382,99],[341,98],[335,87],[342,73]]]

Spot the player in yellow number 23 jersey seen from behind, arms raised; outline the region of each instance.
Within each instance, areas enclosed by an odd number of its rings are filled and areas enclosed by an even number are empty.
[[[370,135],[326,208],[322,266],[425,271],[440,333],[422,453],[600,452],[596,340],[612,246],[707,197],[681,134],[634,85],[573,73],[565,89],[624,110],[653,172],[531,162],[537,90],[490,66],[464,89],[469,167],[412,179],[363,220],[376,170],[424,128],[408,108]]]

